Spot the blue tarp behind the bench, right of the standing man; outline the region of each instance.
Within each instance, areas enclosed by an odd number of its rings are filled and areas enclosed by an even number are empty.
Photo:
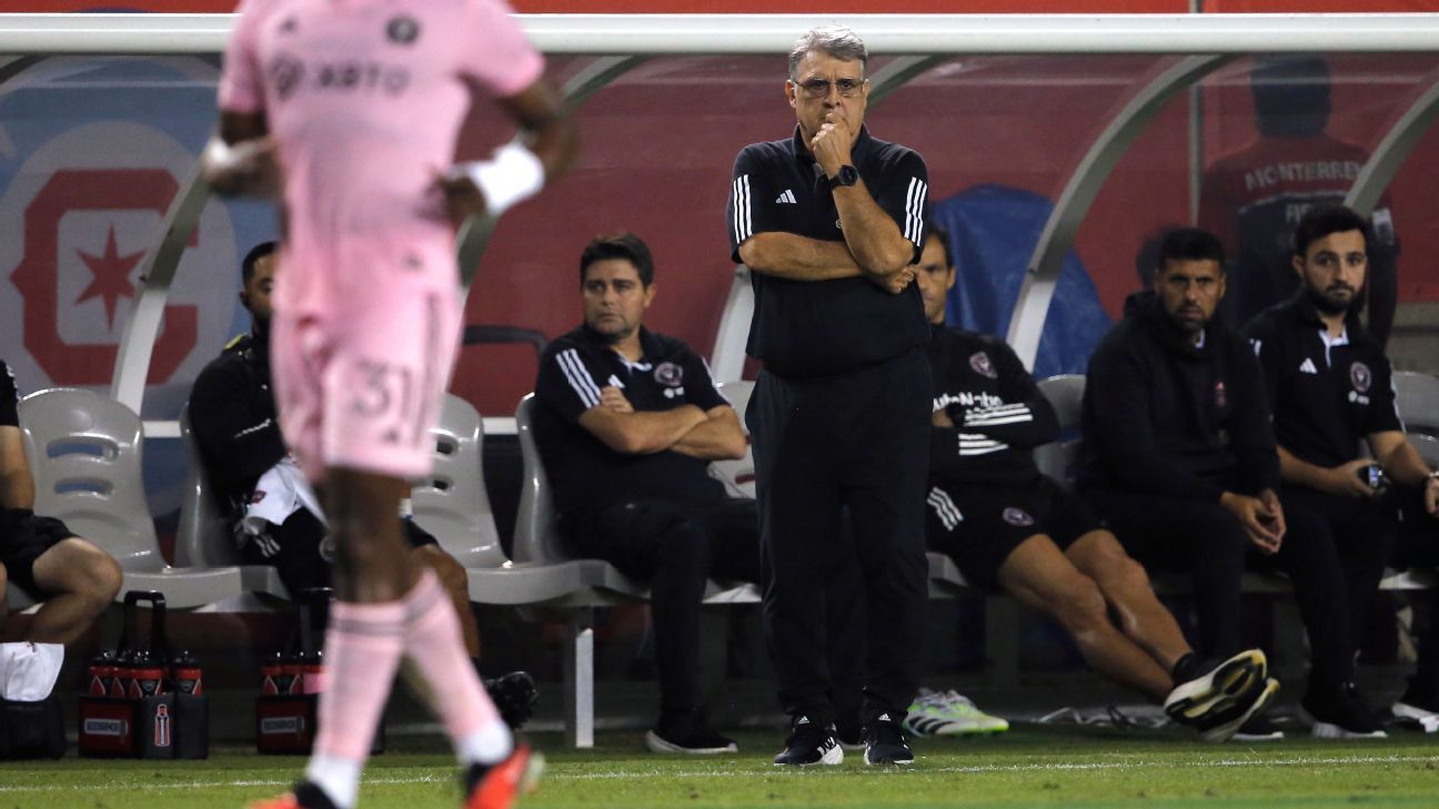
[[[974,186],[934,204],[931,219],[950,232],[958,269],[945,307],[950,324],[1000,337],[1009,331],[1025,268],[1052,209],[1048,199],[1006,186]],[[1082,374],[1108,330],[1099,294],[1071,250],[1039,340],[1035,377]]]

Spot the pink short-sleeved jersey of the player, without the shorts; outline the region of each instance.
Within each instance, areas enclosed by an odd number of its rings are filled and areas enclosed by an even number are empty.
[[[430,189],[453,163],[466,82],[508,96],[543,69],[501,0],[243,0],[220,109],[265,112],[291,252],[324,255],[449,232]],[[453,266],[433,272],[453,281]],[[324,308],[332,289],[315,275],[286,274],[276,304]]]

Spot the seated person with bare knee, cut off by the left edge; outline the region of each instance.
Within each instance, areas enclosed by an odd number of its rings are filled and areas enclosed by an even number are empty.
[[[52,517],[35,514],[19,389],[0,360],[0,641],[71,643],[119,592],[119,564]],[[43,602],[17,638],[4,632],[4,582]]]

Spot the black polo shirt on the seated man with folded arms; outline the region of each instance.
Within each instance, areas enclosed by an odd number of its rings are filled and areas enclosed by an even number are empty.
[[[580,426],[600,403],[602,387],[620,387],[636,410],[730,402],[715,390],[705,361],[682,341],[640,327],[643,357],[630,363],[581,325],[545,347],[535,379],[534,430],[561,514],[583,514],[630,500],[688,504],[722,501],[709,462],[681,452],[614,452]]]

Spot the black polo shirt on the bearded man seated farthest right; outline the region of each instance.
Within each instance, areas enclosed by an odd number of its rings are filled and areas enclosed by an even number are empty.
[[[1368,435],[1403,425],[1384,347],[1354,314],[1343,343],[1325,344],[1325,334],[1302,291],[1245,327],[1274,403],[1275,439],[1299,461],[1328,468],[1358,458]]]

